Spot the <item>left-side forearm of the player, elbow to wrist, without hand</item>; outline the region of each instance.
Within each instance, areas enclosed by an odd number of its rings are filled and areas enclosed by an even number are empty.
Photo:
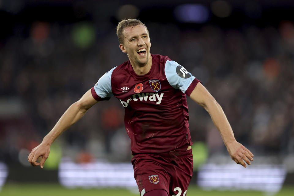
[[[78,102],[72,104],[60,117],[53,129],[43,138],[42,143],[51,145],[65,130],[81,119],[86,111],[87,109],[82,108]]]

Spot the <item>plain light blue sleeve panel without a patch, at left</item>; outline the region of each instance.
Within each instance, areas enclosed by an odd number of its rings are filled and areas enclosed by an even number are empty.
[[[94,86],[94,90],[98,96],[101,98],[113,96],[111,90],[111,74],[116,67],[112,68],[110,71],[107,71],[103,76],[101,76]]]

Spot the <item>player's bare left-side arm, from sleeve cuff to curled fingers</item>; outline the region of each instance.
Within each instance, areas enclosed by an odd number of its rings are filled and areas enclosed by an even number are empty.
[[[36,148],[32,149],[32,152],[28,156],[28,162],[32,166],[40,165],[43,168],[46,159],[50,153],[50,146],[61,135],[65,130],[67,130],[70,126],[76,123],[79,119],[81,119],[86,111],[94,104],[96,101],[92,94],[91,89],[88,90],[80,100],[72,104],[60,117],[56,125],[53,129],[43,138],[42,143],[40,143]],[[42,157],[40,163],[37,163],[37,158]]]

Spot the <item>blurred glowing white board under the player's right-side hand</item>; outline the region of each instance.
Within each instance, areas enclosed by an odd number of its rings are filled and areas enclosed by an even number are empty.
[[[259,190],[278,192],[285,181],[283,165],[205,164],[199,169],[197,184],[206,190]]]

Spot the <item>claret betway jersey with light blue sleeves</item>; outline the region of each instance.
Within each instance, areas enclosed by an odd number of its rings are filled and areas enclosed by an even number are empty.
[[[104,74],[91,89],[98,100],[115,96],[125,108],[133,154],[181,151],[192,145],[186,95],[199,82],[167,56],[152,55],[149,73],[137,75],[130,61]]]

